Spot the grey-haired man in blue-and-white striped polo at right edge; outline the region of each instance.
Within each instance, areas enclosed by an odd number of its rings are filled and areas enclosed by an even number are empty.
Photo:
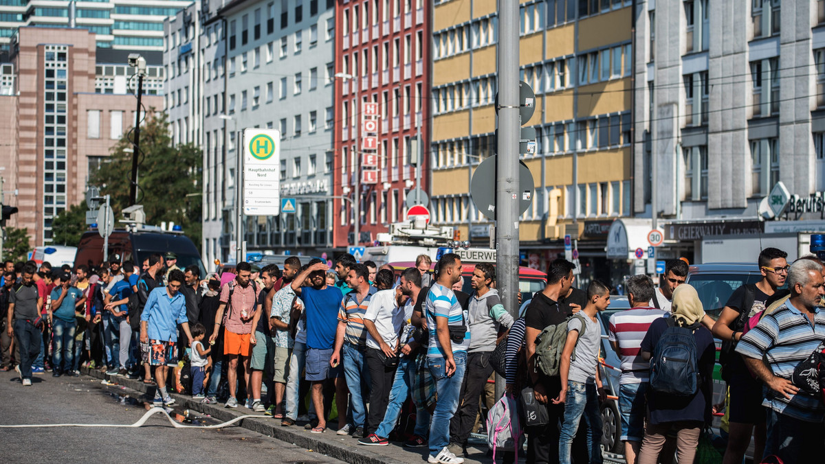
[[[825,451],[821,392],[800,390],[790,379],[794,368],[825,340],[825,312],[819,307],[825,296],[823,266],[797,260],[787,281],[790,299],[743,335],[736,351],[767,387],[762,401],[767,409],[765,456],[818,462]]]

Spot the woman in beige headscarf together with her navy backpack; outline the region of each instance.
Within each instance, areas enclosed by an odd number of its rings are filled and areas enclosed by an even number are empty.
[[[699,436],[711,419],[716,347],[701,324],[705,316],[691,285],[673,291],[672,316],[650,324],[642,358],[650,361],[648,410],[639,464],[656,464],[668,434],[676,433],[679,462],[693,462]]]

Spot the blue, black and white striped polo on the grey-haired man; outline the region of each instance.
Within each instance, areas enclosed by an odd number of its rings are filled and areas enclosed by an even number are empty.
[[[790,379],[794,368],[808,358],[825,340],[825,312],[814,310],[814,324],[799,312],[790,300],[771,314],[761,318],[756,327],[739,340],[738,354],[753,359],[764,359],[776,377]],[[825,417],[825,405],[819,395],[800,391],[790,399],[766,388],[762,405],[794,419],[821,423]]]

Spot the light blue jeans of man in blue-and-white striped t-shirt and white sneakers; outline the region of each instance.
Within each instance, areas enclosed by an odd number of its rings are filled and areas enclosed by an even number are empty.
[[[427,358],[427,366],[430,368],[430,375],[436,382],[438,392],[438,402],[436,410],[432,412],[432,422],[430,424],[430,454],[436,456],[441,448],[450,444],[450,419],[459,409],[461,396],[461,383],[464,382],[464,369],[467,368],[467,354],[462,352],[454,353],[455,373],[450,377],[444,372],[446,359],[441,356]]]

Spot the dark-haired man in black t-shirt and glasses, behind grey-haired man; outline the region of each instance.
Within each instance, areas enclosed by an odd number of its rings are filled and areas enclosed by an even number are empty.
[[[753,435],[754,456],[761,457],[765,448],[765,410],[762,403],[762,382],[747,371],[742,357],[734,354],[742,330],[752,316],[765,311],[768,298],[785,284],[788,275],[788,254],[776,248],[766,248],[759,253],[759,270],[762,279],[757,284],[744,284],[728,298],[725,307],[714,324],[713,334],[722,340],[719,363],[722,378],[730,387],[728,422],[728,449],[724,464],[742,462]]]

